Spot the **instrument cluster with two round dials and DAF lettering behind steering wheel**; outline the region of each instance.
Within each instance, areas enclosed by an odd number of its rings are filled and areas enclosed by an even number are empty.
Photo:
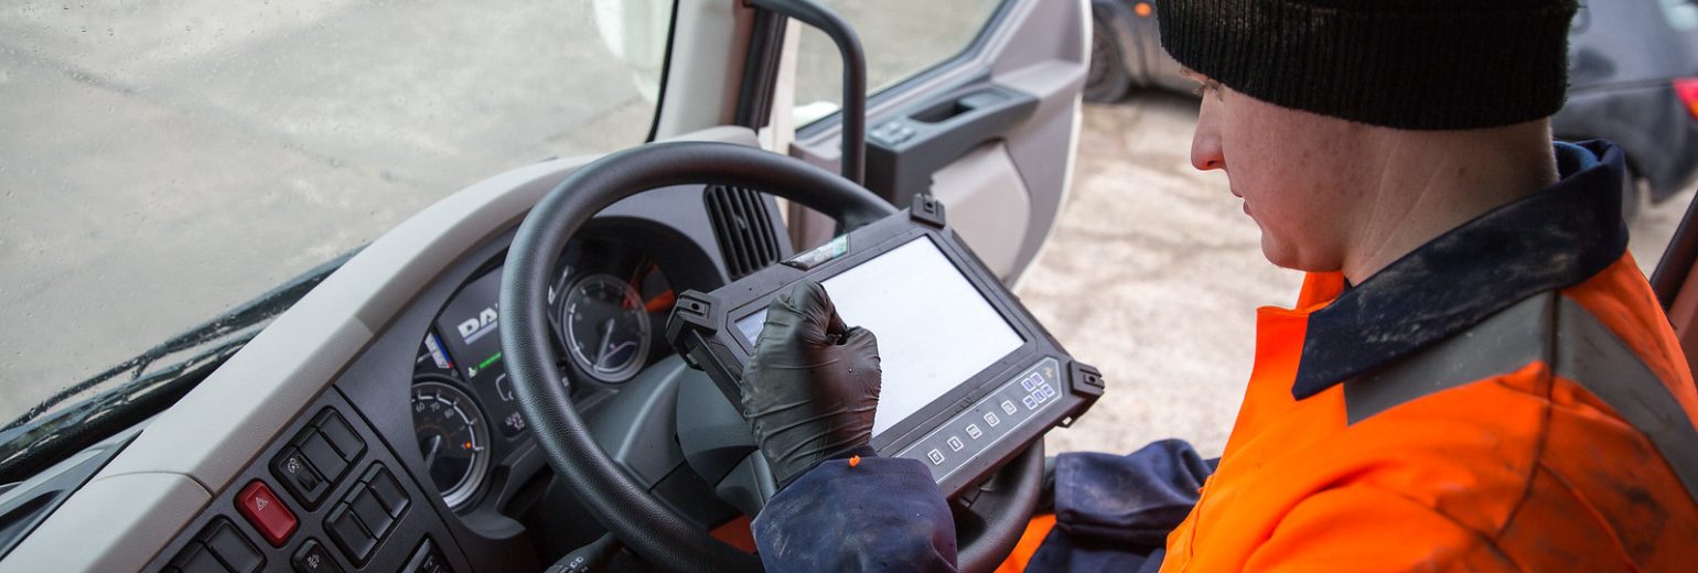
[[[496,461],[530,442],[501,356],[501,263],[474,275],[421,336],[413,364],[413,427],[443,502],[474,505]],[[548,288],[548,324],[562,383],[574,398],[616,392],[671,353],[674,303],[666,273],[640,249],[606,239],[567,246]]]

